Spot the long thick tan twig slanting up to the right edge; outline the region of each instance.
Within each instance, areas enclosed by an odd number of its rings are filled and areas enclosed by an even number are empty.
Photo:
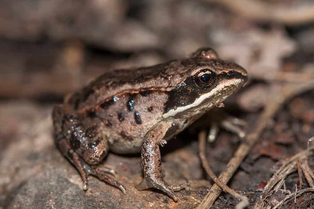
[[[264,111],[257,119],[256,127],[252,128],[252,131],[247,135],[246,140],[241,143],[234,156],[228,162],[226,170],[219,175],[219,180],[221,182],[226,184],[230,180],[232,175],[240,166],[242,160],[256,143],[263,129],[266,127],[271,118],[273,118],[273,115],[278,111],[281,105],[296,94],[312,89],[313,87],[314,81],[310,81],[298,84],[286,84],[282,86],[280,90],[277,89],[277,91],[273,91],[273,96],[270,97]],[[214,184],[210,190],[211,192],[208,192],[198,208],[211,207],[221,192],[221,189],[217,184]]]

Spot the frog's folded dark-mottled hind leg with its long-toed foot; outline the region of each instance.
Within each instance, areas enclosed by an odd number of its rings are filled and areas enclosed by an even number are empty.
[[[53,120],[55,143],[79,171],[84,190],[88,188],[88,176],[94,175],[126,194],[127,191],[122,184],[105,174],[115,174],[114,170],[93,166],[98,164],[108,152],[106,139],[99,136],[96,129],[85,128],[75,114],[62,105],[54,107]]]

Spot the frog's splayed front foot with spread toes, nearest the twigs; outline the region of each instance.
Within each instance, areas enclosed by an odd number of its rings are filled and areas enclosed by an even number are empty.
[[[135,186],[138,190],[145,190],[149,188],[156,188],[161,191],[164,191],[169,196],[171,196],[174,201],[178,201],[178,197],[174,193],[174,191],[180,191],[182,189],[190,190],[190,184],[188,182],[179,184],[179,185],[169,185],[165,182],[161,177],[155,180],[145,178],[142,180],[141,183]]]

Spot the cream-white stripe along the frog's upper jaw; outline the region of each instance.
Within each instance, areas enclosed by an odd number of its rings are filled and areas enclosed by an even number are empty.
[[[217,105],[218,103],[224,101],[227,97],[229,97],[234,92],[232,90],[241,87],[241,84],[243,84],[243,79],[240,79],[240,78],[225,80],[224,82],[221,82],[221,84],[213,88],[211,91],[198,97],[193,103],[188,104],[186,106],[170,109],[168,112],[164,113],[162,117],[163,118],[173,117],[178,113],[187,111],[192,108],[196,109],[195,111],[193,111],[194,114],[198,114],[204,111],[204,109],[210,109],[211,107],[214,107],[215,105]],[[232,90],[227,91],[228,88],[230,88],[231,86],[234,86],[232,87]],[[213,98],[213,99],[210,100],[210,98]],[[209,101],[202,104],[206,99],[208,99]]]

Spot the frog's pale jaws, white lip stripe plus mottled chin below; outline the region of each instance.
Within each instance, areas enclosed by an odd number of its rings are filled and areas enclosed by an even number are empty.
[[[164,112],[163,118],[184,117],[184,115],[188,117],[202,112],[205,113],[218,103],[223,102],[231,94],[238,91],[247,82],[246,75],[229,79],[225,79],[222,76],[225,75],[219,74],[216,86],[210,91],[198,95],[193,102],[188,103],[187,105],[169,108],[167,112]],[[190,94],[192,94],[192,92],[190,92]]]

